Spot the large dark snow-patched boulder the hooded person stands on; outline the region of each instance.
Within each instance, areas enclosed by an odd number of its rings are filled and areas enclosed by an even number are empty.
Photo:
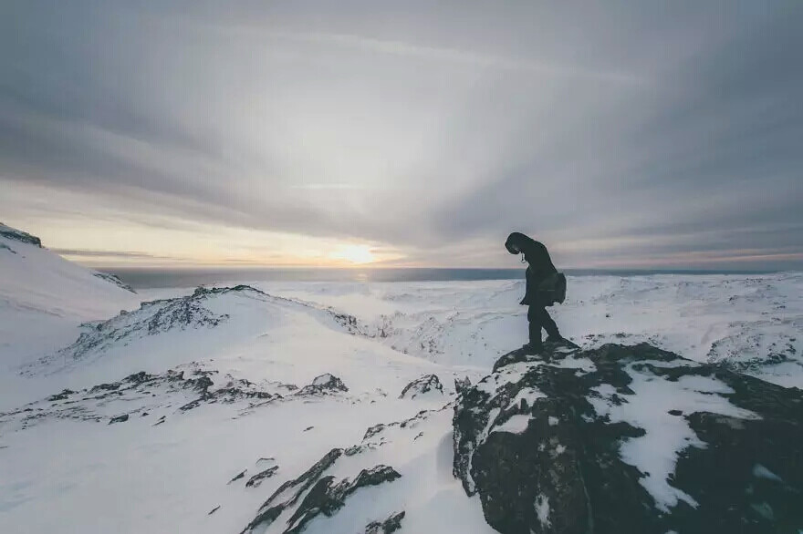
[[[500,365],[454,408],[503,533],[798,532],[801,457],[803,392],[648,344]]]

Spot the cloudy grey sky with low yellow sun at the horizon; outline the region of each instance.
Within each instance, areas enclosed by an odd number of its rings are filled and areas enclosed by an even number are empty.
[[[90,264],[803,268],[803,2],[0,6],[0,221]]]

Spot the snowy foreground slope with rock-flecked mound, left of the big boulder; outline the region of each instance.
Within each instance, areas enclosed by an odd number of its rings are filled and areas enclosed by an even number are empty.
[[[20,377],[63,376],[68,389],[0,415],[0,512],[32,532],[65,521],[84,532],[239,531],[281,482],[352,447],[334,472],[392,462],[400,483],[381,507],[339,515],[343,530],[313,521],[307,531],[361,531],[402,504],[418,531],[443,529],[442,507],[466,532],[491,531],[451,476],[449,385],[481,371],[400,354],[352,322],[241,286],[99,323]],[[400,398],[422,375],[447,391]]]

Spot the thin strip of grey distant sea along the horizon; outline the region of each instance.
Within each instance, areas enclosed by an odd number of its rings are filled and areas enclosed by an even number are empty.
[[[197,287],[246,282],[446,282],[524,279],[520,269],[99,269],[120,277],[134,289]],[[653,274],[765,274],[767,271],[623,271],[567,269],[569,276],[650,276]]]

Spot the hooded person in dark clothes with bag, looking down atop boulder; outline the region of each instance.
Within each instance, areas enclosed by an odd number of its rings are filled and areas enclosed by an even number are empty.
[[[505,241],[505,248],[511,254],[523,254],[527,262],[527,291],[520,304],[527,308],[527,321],[529,322],[529,342],[522,349],[529,354],[540,353],[544,345],[541,341],[541,329],[547,331],[547,342],[564,341],[558,331],[558,324],[552,320],[547,312],[547,306],[553,301],[544,290],[544,282],[562,278],[565,293],[565,277],[558,273],[552,259],[549,257],[547,247],[527,235],[514,231]],[[560,302],[563,302],[562,297]]]

